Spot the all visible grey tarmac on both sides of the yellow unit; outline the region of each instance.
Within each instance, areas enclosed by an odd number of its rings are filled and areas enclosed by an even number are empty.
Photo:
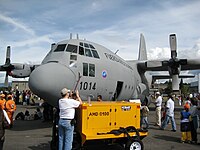
[[[17,106],[18,112],[25,112],[28,109],[33,113],[36,106]],[[180,106],[175,109],[175,121],[177,131],[171,131],[171,124],[168,124],[165,130],[160,130],[154,126],[155,111],[154,107],[150,106],[148,121],[150,124],[149,134],[142,141],[145,150],[199,150],[199,144],[181,143],[180,137]],[[50,150],[50,141],[52,135],[52,123],[43,122],[42,120],[15,120],[12,129],[7,129],[4,143],[4,150]],[[200,128],[198,129],[198,143],[200,143]],[[95,150],[117,150],[121,149],[119,145],[91,145],[88,149]]]

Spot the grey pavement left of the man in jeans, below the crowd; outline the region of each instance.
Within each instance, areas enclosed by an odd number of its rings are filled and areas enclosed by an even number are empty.
[[[28,109],[32,114],[36,107],[17,106],[15,115]],[[51,122],[42,120],[16,120],[11,130],[6,130],[5,150],[50,150]]]

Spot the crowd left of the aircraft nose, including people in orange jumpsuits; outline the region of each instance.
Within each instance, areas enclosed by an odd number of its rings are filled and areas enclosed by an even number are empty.
[[[35,103],[36,96],[30,90],[19,92],[15,91],[0,91],[0,150],[3,149],[5,141],[5,129],[11,129],[14,125],[14,120],[43,120],[52,121],[53,107],[46,102],[39,101]],[[15,115],[17,105],[37,106],[34,112],[19,112]],[[43,112],[41,111],[41,108]]]

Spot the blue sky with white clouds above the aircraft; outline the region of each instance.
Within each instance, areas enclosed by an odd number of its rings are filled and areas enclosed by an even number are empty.
[[[199,7],[199,0],[0,0],[0,64],[7,45],[12,62],[40,63],[70,33],[128,60],[138,57],[140,33],[149,59],[170,57],[169,34],[176,33],[178,56],[199,58]]]

